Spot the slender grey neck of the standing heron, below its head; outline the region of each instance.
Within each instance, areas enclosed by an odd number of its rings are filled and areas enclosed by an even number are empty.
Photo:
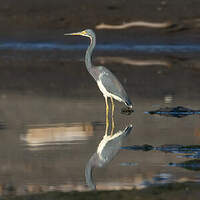
[[[90,38],[90,45],[85,54],[85,65],[89,72],[90,72],[90,69],[92,68],[92,52],[93,52],[95,45],[96,45],[96,38],[95,38],[95,36],[93,36]]]

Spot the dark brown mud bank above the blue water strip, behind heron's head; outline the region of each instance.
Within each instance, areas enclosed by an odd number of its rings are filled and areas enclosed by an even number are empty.
[[[153,38],[173,42],[178,38],[198,42],[200,14],[198,0],[81,0],[55,2],[52,0],[20,3],[1,0],[0,40],[65,41],[63,33],[84,28],[96,30],[98,41],[134,39],[148,42]],[[134,26],[127,29],[98,29],[100,24],[123,25],[130,22],[170,23],[166,28]]]

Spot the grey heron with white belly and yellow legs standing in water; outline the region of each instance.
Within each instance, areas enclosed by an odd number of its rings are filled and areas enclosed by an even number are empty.
[[[107,98],[110,97],[112,102],[112,116],[114,114],[114,101],[113,99],[116,99],[117,101],[125,103],[125,105],[128,108],[132,108],[132,103],[124,90],[123,86],[117,79],[117,77],[109,71],[107,68],[103,66],[93,66],[92,65],[92,52],[96,44],[96,36],[93,30],[86,29],[81,32],[77,33],[67,33],[64,35],[80,35],[90,38],[90,45],[86,51],[85,55],[85,65],[87,67],[88,72],[92,75],[92,77],[97,82],[97,85],[100,89],[100,91],[103,93],[105,102],[106,102],[106,126],[108,124],[108,101]],[[114,122],[113,122],[114,126]],[[106,130],[107,132],[107,130]]]

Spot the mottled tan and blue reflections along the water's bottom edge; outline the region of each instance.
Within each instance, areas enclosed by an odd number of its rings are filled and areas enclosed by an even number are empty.
[[[160,185],[163,183],[185,183],[185,182],[196,182],[196,180],[191,179],[189,177],[182,177],[175,180],[175,177],[170,174],[151,174],[147,177],[138,174],[134,179],[124,180],[120,179],[118,181],[99,181],[98,182],[98,190],[132,190],[132,189],[144,189],[150,185]],[[0,195],[30,195],[30,194],[38,194],[44,192],[71,192],[71,191],[79,191],[85,192],[88,191],[88,187],[85,187],[82,183],[73,183],[66,182],[63,184],[57,185],[48,185],[48,184],[0,184]]]

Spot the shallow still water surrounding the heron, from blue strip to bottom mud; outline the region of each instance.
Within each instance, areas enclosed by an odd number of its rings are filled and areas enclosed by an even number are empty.
[[[105,133],[105,105],[84,67],[80,50],[86,46],[61,45],[66,51],[60,53],[54,52],[56,44],[16,44],[1,47],[1,194],[88,190],[85,167]],[[126,48],[128,53],[121,53]],[[145,113],[166,106],[200,109],[200,65],[194,56],[199,51],[199,45],[97,47],[95,63],[115,73],[135,104],[128,116],[116,103],[114,133],[130,124],[133,129],[112,160],[94,169],[98,190],[200,181],[198,170],[180,164],[199,159],[194,146],[200,143],[199,115]],[[125,148],[144,144],[153,149]]]

